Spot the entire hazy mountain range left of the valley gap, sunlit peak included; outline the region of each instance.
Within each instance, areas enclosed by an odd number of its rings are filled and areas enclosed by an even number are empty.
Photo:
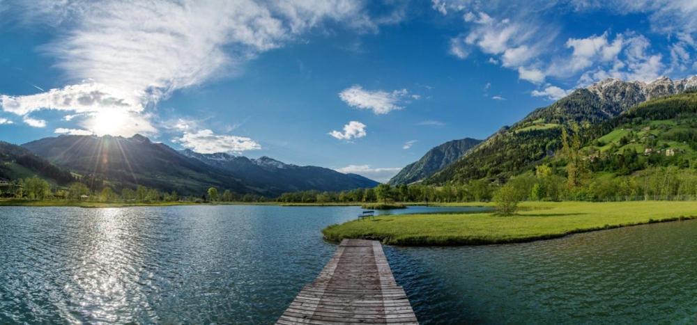
[[[180,152],[138,134],[131,138],[58,136],[31,141],[22,147],[57,166],[80,175],[93,175],[115,187],[144,185],[192,195],[217,187],[277,196],[286,191],[340,191],[378,184],[358,175],[284,164],[269,157],[248,159],[225,153]]]

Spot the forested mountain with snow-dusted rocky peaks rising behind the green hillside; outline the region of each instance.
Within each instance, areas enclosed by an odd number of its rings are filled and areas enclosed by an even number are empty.
[[[574,90],[557,102],[536,109],[511,127],[503,127],[467,152],[461,159],[429,177],[427,184],[467,182],[488,177],[510,177],[533,168],[561,146],[562,127],[571,122],[588,129],[610,120],[647,100],[697,88],[697,76],[650,83],[605,79]]]

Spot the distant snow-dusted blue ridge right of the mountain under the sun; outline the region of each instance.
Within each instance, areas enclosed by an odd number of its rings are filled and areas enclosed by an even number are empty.
[[[208,166],[236,175],[242,182],[256,189],[272,193],[291,191],[342,191],[376,187],[378,182],[355,174],[343,174],[329,168],[285,164],[269,157],[249,159],[223,152],[200,154],[182,150],[186,157],[197,159]]]

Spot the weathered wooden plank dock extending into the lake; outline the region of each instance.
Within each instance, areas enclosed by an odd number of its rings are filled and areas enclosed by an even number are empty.
[[[276,324],[419,324],[379,241],[344,239]]]

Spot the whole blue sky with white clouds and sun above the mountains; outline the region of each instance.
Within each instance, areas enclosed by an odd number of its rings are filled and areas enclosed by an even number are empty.
[[[386,181],[608,77],[697,73],[697,1],[0,0],[0,140],[143,134]]]

